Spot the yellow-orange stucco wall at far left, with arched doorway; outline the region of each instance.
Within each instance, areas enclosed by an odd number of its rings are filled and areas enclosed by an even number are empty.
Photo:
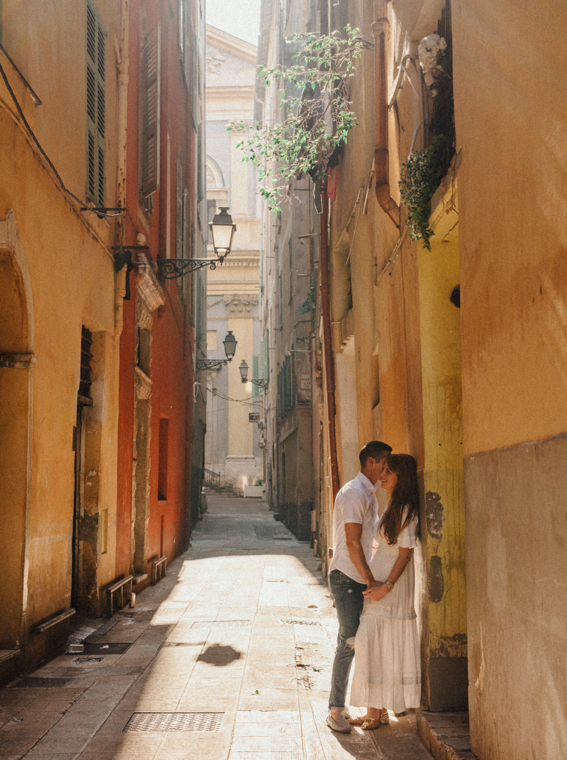
[[[117,34],[118,13],[112,2],[98,2],[97,11],[109,33]],[[40,11],[20,3],[3,4],[3,45],[42,100],[33,104],[30,94],[5,59],[2,65],[24,108],[30,125],[58,168],[65,184],[84,198],[86,187],[84,6],[64,2],[55,11]],[[107,40],[106,70],[114,68],[112,45]],[[75,41],[75,42],[74,42]],[[80,41],[80,43],[78,42]],[[56,54],[55,52],[56,51]],[[79,56],[77,59],[77,55]],[[49,61],[49,66],[45,62]],[[81,74],[77,76],[77,71]],[[106,86],[106,202],[116,204],[115,77]],[[113,126],[114,125],[114,126]],[[115,272],[112,245],[114,224],[78,210],[76,201],[61,191],[46,161],[33,147],[19,122],[13,100],[0,87],[0,223],[9,212],[14,239],[29,273],[20,290],[33,300],[33,380],[30,404],[30,449],[20,447],[15,469],[27,468],[27,496],[18,504],[16,519],[24,524],[19,585],[11,603],[24,622],[16,630],[2,630],[2,646],[21,646],[30,628],[71,604],[71,544],[74,514],[73,428],[77,416],[80,375],[81,326],[93,333],[93,407],[85,412],[86,462],[83,490],[85,506],[95,515],[109,510],[109,546],[100,554],[99,535],[93,537],[96,556],[93,611],[98,612],[99,589],[115,578],[116,426],[118,417],[118,335],[115,334]],[[12,241],[14,242],[14,241]],[[13,247],[13,246],[12,246]],[[2,254],[14,261],[8,246]],[[6,272],[0,287],[6,287]],[[0,332],[14,326],[0,317]],[[0,351],[6,350],[2,340]],[[0,382],[21,369],[2,369]],[[15,376],[15,375],[12,375]],[[14,388],[14,386],[12,385]],[[23,386],[20,388],[24,392]],[[14,388],[14,393],[15,393]],[[5,396],[0,417],[6,414]],[[11,409],[13,413],[13,408]],[[22,419],[24,414],[22,414]],[[5,430],[5,428],[3,428]],[[91,445],[88,441],[96,439]],[[5,461],[2,470],[12,465]],[[9,502],[2,499],[2,509]],[[95,519],[95,523],[96,524]],[[27,526],[26,526],[27,522]],[[4,521],[3,521],[4,523]],[[99,524],[99,521],[98,521]],[[21,527],[21,526],[20,526]],[[98,528],[99,531],[99,528]],[[17,531],[16,531],[17,533]],[[1,562],[5,562],[2,555]],[[2,569],[4,573],[4,569]],[[92,584],[91,584],[92,585]],[[15,587],[14,587],[15,588]],[[43,657],[66,626],[27,639],[26,661]],[[22,638],[24,637],[24,638]]]

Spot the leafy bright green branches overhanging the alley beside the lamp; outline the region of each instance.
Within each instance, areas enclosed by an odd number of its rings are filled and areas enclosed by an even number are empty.
[[[294,56],[297,64],[259,69],[266,87],[281,90],[282,119],[273,125],[243,120],[228,125],[228,131],[244,133],[237,147],[244,150],[243,161],[257,166],[260,194],[274,214],[282,210],[294,176],[309,173],[315,182],[323,178],[329,157],[345,144],[354,125],[346,84],[367,43],[358,29],[348,25],[345,33],[345,39],[338,32],[296,34],[293,40],[301,46]]]

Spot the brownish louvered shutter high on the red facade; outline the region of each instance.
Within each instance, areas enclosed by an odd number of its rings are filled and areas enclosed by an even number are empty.
[[[159,190],[160,25],[146,36],[142,62],[142,196]]]

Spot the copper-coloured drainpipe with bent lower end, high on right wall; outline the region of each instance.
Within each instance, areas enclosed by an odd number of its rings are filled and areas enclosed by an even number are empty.
[[[372,36],[374,38],[374,108],[376,200],[395,226],[400,226],[400,208],[390,194],[388,154],[388,87],[386,84],[386,34],[390,22],[386,17],[386,0],[374,0]]]

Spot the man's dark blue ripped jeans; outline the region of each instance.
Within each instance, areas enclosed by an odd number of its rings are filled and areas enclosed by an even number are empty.
[[[335,649],[335,660],[332,663],[329,710],[344,710],[348,675],[351,672],[354,658],[354,648],[347,643],[347,640],[354,638],[358,624],[361,622],[362,607],[364,606],[362,592],[366,590],[366,584],[353,581],[340,570],[332,570],[329,573],[329,589],[335,600],[337,618],[339,619],[337,648]]]

